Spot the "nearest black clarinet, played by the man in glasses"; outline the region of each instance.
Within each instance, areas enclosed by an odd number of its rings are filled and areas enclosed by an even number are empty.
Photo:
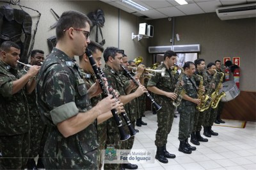
[[[104,80],[102,79],[102,77],[100,77],[100,73],[97,70],[97,65],[95,63],[95,60],[93,59],[92,52],[88,48],[86,48],[86,55],[89,58],[90,64],[92,65],[92,68],[93,68],[93,72],[95,73],[97,80],[99,81],[100,88],[102,89],[103,94],[105,95],[105,97],[108,97],[110,95],[109,91],[104,84]],[[125,134],[124,127],[122,125],[122,120],[120,120],[116,109],[112,109],[111,113],[113,115],[113,118],[114,118],[116,125],[118,127],[118,130],[120,132],[120,141],[125,141],[125,140],[129,139],[131,137],[131,135]]]

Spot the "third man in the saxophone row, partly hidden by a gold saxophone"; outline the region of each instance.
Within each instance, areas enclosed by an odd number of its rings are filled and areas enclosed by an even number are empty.
[[[206,86],[208,79],[207,79],[207,73],[205,70],[205,61],[204,59],[196,59],[195,60],[195,66],[196,66],[196,74],[201,75],[203,77],[203,85]],[[196,86],[200,85],[200,77],[194,75],[194,79],[196,82]],[[200,145],[199,142],[208,142],[208,139],[205,139],[202,137],[200,134],[202,130],[202,124],[205,119],[205,112],[200,112],[198,109],[195,111],[195,116],[194,116],[194,127],[193,127],[193,132],[191,133],[191,139],[190,142],[195,144],[195,145]]]

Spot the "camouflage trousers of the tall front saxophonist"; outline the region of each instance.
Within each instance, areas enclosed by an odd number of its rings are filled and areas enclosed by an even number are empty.
[[[162,108],[157,112],[157,131],[156,141],[157,147],[164,146],[167,143],[168,134],[172,130],[175,107],[170,105],[162,105]]]

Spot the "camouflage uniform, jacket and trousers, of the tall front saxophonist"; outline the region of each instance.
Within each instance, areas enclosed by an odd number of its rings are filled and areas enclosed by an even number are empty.
[[[164,67],[166,66],[162,64],[157,67],[157,70],[161,70]],[[163,91],[173,92],[176,82],[177,79],[175,79],[175,75],[172,70],[167,70],[166,68],[164,77],[161,76],[161,73],[156,73],[155,76],[152,76],[149,79],[147,86],[156,86]],[[157,131],[155,141],[156,146],[161,147],[167,143],[168,134],[170,134],[172,130],[175,107],[172,104],[172,99],[163,95],[154,94],[154,100],[157,104],[162,106],[162,108],[157,112]]]

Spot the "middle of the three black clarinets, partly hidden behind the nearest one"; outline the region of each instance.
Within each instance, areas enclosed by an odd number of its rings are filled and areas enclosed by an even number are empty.
[[[98,68],[98,70],[99,70],[99,73],[101,74],[102,77],[106,77],[100,68]],[[113,91],[113,88],[111,87],[111,85],[108,85],[108,86],[109,86],[109,88],[108,88],[109,93],[111,95],[113,95],[114,98],[117,99],[116,94]],[[116,101],[119,101],[119,99],[116,100]],[[129,117],[127,116],[127,113],[126,112],[121,112],[121,115],[124,118],[124,120],[125,120],[125,122],[127,124],[127,127],[129,128],[130,135],[134,136],[137,132],[135,131],[134,127],[132,126]]]

